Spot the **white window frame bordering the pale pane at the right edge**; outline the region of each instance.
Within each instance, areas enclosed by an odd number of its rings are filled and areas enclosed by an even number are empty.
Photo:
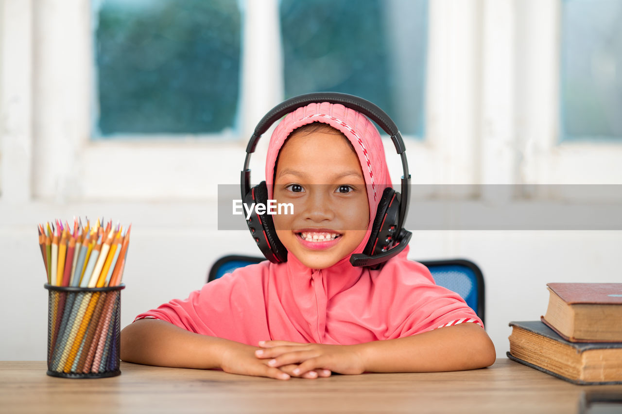
[[[561,1],[527,0],[515,7],[521,183],[621,184],[622,140],[561,140]]]

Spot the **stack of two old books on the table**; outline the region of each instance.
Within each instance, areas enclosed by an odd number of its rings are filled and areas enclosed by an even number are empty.
[[[541,321],[509,323],[509,359],[573,384],[622,384],[622,283],[547,287]]]

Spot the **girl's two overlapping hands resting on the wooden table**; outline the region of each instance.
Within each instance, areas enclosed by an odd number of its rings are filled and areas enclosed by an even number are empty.
[[[242,344],[240,344],[242,345]],[[302,344],[290,341],[260,341],[243,345],[223,355],[221,368],[234,374],[258,375],[287,380],[314,379],[339,374],[361,374],[364,361],[360,345]],[[253,354],[249,355],[249,351]],[[230,351],[234,351],[230,349]]]

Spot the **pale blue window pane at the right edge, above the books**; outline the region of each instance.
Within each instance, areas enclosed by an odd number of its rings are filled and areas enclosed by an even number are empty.
[[[622,2],[562,1],[562,139],[622,139]]]

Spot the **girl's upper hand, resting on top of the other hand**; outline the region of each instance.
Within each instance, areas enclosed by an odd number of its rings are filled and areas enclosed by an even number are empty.
[[[255,356],[260,361],[267,361],[269,367],[290,367],[294,375],[305,375],[316,371],[327,376],[324,370],[340,374],[362,374],[364,361],[355,345],[301,344],[289,341],[261,341]]]

